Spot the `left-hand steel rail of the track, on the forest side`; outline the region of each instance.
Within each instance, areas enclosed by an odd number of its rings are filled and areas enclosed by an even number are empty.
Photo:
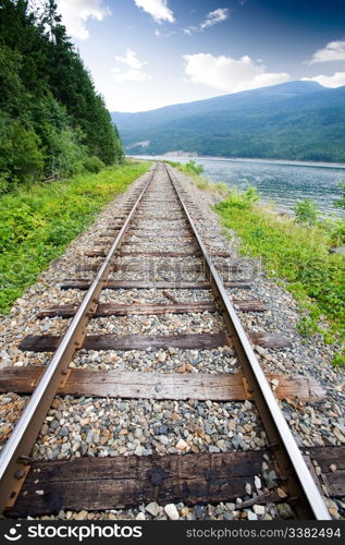
[[[61,380],[67,375],[67,366],[75,350],[82,348],[86,335],[85,327],[97,307],[98,298],[107,281],[114,254],[119,250],[130,223],[153,180],[156,170],[157,167],[149,173],[144,189],[127,215],[76,315],[0,453],[0,512],[4,510],[10,499],[15,498],[25,480],[30,461],[29,455],[39,429],[57,395]]]

